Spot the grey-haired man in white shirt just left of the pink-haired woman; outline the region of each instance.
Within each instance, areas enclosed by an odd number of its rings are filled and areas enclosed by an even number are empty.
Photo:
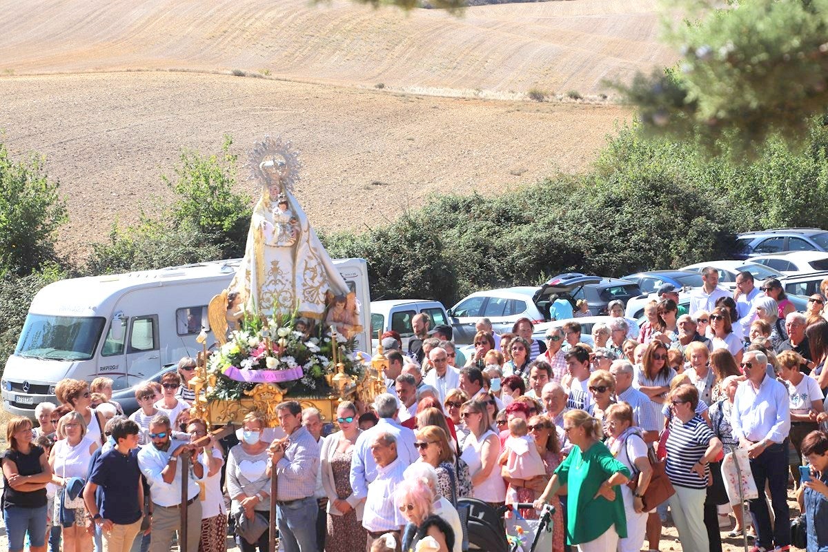
[[[406,526],[402,511],[394,506],[394,490],[403,481],[408,463],[397,456],[397,438],[382,431],[373,436],[371,456],[377,465],[377,477],[368,483],[368,498],[363,512],[363,527],[368,532],[366,552],[383,533],[394,533],[397,541]]]

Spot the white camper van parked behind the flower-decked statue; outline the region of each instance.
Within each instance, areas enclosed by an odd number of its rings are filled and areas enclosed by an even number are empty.
[[[113,379],[115,390],[143,382],[166,364],[195,357],[195,338],[209,329],[207,305],[224,290],[240,259],[155,271],[91,276],[55,282],[37,293],[17,348],[2,375],[2,401],[15,415],[34,417],[35,406],[55,401],[65,377]],[[370,351],[368,266],[364,259],[335,260],[356,291],[363,332],[356,348]]]

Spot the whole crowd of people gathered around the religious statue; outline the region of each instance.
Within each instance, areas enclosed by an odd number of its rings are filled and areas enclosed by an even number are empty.
[[[753,552],[788,550],[791,481],[807,550],[828,550],[828,281],[800,313],[778,281],[744,272],[731,293],[718,276],[703,271],[689,308],[662,288],[640,328],[610,305],[592,344],[576,320],[537,339],[528,319],[505,334],[480,319],[465,358],[450,326],[418,314],[407,351],[383,335],[387,392],[373,404],[344,401],[324,420],[286,401],[277,429],[254,411],[223,440],[190,417],[191,358],[139,386],[128,417],[111,380],[64,380],[36,427],[7,424],[10,550],[160,552],[177,538],[218,552],[232,534],[244,551],[278,535],[287,552],[460,552],[474,540],[465,497],[533,503],[527,520],[555,506],[551,552],[659,550],[667,516],[682,550],[721,550],[730,515],[728,535],[749,535]],[[739,448],[759,489],[749,516],[721,474]]]

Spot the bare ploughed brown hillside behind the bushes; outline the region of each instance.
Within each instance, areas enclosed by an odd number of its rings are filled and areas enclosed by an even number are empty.
[[[504,193],[592,161],[628,109],[525,93],[595,98],[602,79],[672,63],[655,3],[452,17],[344,0],[0,0],[2,140],[49,159],[73,255],[170,197],[159,175],[179,148],[218,151],[225,132],[239,153],[290,137],[311,221],[364,228],[433,192]]]

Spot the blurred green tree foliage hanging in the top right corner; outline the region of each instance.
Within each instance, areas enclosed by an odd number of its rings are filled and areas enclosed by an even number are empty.
[[[697,137],[706,151],[753,159],[782,137],[802,146],[828,104],[828,0],[685,0],[690,22],[667,41],[678,70],[616,85],[654,136]],[[671,9],[675,7],[673,5]]]

